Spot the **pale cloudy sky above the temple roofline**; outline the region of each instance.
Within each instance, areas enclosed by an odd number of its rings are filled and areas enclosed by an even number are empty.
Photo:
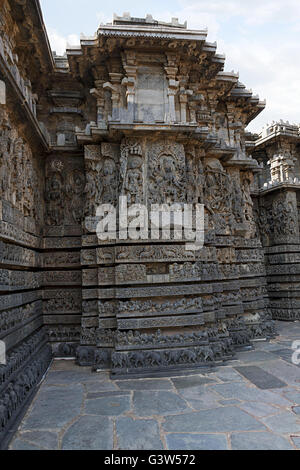
[[[208,28],[208,41],[226,55],[225,70],[240,73],[267,107],[249,126],[273,120],[300,122],[300,0],[40,0],[51,47],[63,54],[80,33],[93,35],[113,13]]]

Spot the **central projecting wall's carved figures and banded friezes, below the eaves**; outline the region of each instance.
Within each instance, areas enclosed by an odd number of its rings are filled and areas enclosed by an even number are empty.
[[[207,214],[196,252],[174,240],[105,244],[83,235],[79,363],[116,375],[212,366],[274,335],[252,171],[153,137],[87,145],[85,161],[86,227],[97,204],[117,205],[119,194],[148,206],[202,202]]]

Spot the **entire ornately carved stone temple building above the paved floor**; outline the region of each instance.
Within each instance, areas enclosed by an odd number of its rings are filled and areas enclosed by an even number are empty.
[[[38,0],[0,6],[0,441],[52,357],[113,377],[213,367],[300,319],[300,132],[207,31],[114,16],[52,54]],[[205,245],[101,241],[97,207],[203,204]]]

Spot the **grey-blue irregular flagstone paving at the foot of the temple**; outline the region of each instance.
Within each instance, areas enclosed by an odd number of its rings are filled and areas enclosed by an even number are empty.
[[[113,382],[55,361],[10,448],[300,449],[300,322],[212,373]]]

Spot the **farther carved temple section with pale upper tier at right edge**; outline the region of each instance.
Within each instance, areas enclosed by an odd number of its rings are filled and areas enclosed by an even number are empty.
[[[299,143],[298,126],[273,123],[259,135],[253,153],[261,165],[254,199],[271,313],[284,321],[300,319]]]

